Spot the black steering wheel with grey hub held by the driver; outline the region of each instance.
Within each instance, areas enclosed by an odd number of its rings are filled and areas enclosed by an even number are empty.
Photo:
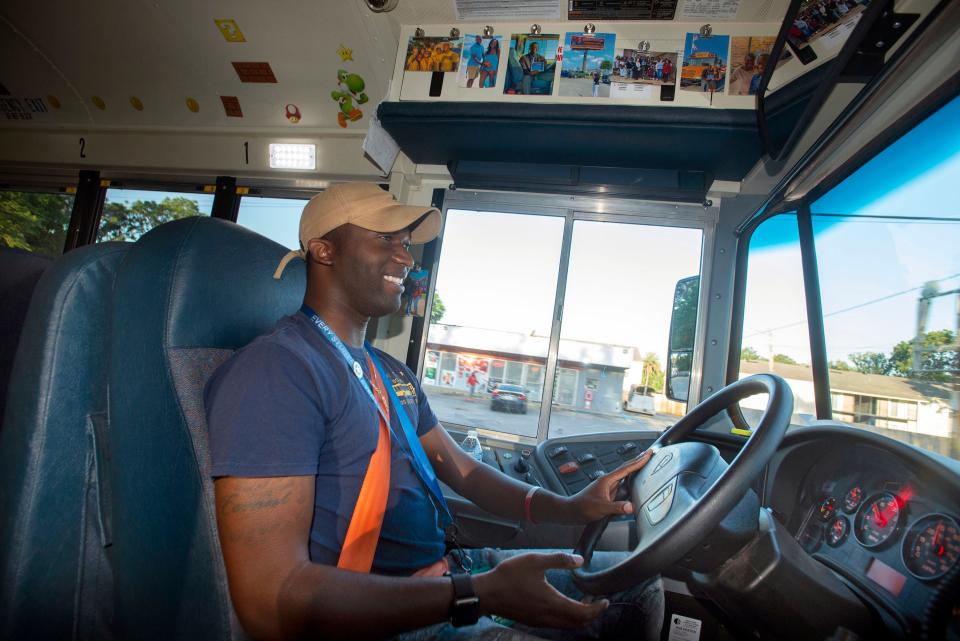
[[[727,465],[713,445],[682,442],[719,412],[747,397],[767,393],[760,423]],[[736,506],[776,452],[790,424],[793,393],[779,376],[756,374],[727,385],[660,435],[653,458],[628,477],[639,543],[622,562],[592,571],[590,559],[610,517],[589,524],[574,552],[584,563],[573,570],[588,594],[611,594],[660,574],[680,560]]]

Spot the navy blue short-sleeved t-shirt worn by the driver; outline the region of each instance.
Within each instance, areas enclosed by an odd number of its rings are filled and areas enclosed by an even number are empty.
[[[363,349],[350,351],[366,372]],[[422,436],[438,421],[416,376],[377,355],[384,384]],[[214,372],[204,402],[213,476],[316,475],[310,559],[336,565],[379,434],[376,406],[336,349],[304,314],[286,316]],[[406,444],[397,442],[396,408],[390,415],[390,494],[373,571],[410,574],[443,555],[444,537]]]

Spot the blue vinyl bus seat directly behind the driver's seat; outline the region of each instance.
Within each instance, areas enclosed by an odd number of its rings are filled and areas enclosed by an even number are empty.
[[[58,258],[26,315],[0,431],[0,638],[109,639],[110,298],[129,248]]]

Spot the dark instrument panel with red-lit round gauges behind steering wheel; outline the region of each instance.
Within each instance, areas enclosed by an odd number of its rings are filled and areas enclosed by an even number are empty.
[[[955,462],[848,426],[805,429],[771,462],[767,504],[807,553],[916,630],[931,600],[956,589]]]

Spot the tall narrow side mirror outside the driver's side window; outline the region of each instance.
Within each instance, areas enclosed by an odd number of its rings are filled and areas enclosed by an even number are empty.
[[[699,301],[700,276],[677,281],[673,291],[673,313],[670,315],[670,339],[667,345],[666,394],[667,398],[682,403],[690,397]]]

